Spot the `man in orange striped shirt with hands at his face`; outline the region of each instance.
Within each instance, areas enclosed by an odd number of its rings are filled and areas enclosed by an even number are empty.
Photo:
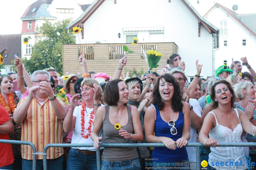
[[[37,70],[32,76],[28,97],[18,103],[13,113],[14,121],[22,123],[21,140],[34,143],[42,152],[49,143],[62,143],[62,121],[66,116],[64,103],[56,98],[50,85],[50,74]],[[33,152],[28,145],[21,145],[22,169],[32,169]],[[47,150],[47,169],[62,169],[63,148]],[[43,156],[37,155],[36,169],[43,169]]]

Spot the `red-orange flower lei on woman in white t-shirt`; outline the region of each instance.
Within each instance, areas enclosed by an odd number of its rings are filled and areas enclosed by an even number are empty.
[[[88,133],[86,135],[84,135],[83,132],[84,132],[84,115],[85,115],[84,111],[85,111],[85,107],[86,107],[86,102],[84,101],[83,104],[82,104],[82,110],[81,110],[81,122],[82,122],[81,123],[81,126],[82,126],[81,132],[82,133],[80,135],[82,135],[83,138],[88,139],[88,137],[91,136],[91,133],[92,133],[91,127],[92,127],[92,123],[93,123],[93,119],[94,119],[94,108],[93,108],[92,112],[90,113],[89,126],[86,129],[86,130],[88,130]]]

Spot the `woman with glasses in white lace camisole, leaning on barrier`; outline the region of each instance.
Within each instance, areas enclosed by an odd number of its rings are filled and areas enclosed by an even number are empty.
[[[200,143],[211,147],[208,164],[216,169],[247,169],[243,147],[216,147],[221,143],[242,142],[243,130],[255,135],[256,126],[252,125],[246,114],[240,109],[234,109],[235,95],[230,83],[220,80],[211,86],[213,110],[209,112],[199,133]],[[208,137],[209,136],[209,137]],[[215,164],[216,162],[224,162]],[[242,164],[234,164],[235,162]],[[233,164],[225,164],[233,162]],[[244,165],[244,166],[243,166]]]

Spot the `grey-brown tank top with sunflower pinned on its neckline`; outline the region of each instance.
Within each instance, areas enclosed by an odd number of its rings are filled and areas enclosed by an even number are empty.
[[[131,107],[127,107],[128,112],[128,123],[126,125],[121,125],[122,129],[126,130],[128,133],[133,133],[132,126],[132,114]],[[131,140],[126,140],[124,137],[119,135],[119,130],[114,128],[114,125],[109,121],[109,105],[105,105],[105,118],[102,122],[102,129],[105,143],[132,143]],[[118,122],[116,122],[118,123]],[[102,154],[102,161],[126,161],[134,158],[138,158],[138,154],[134,147],[105,147]]]

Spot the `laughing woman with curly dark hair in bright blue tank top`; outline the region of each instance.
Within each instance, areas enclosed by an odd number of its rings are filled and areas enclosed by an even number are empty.
[[[166,165],[172,169],[190,168],[187,150],[183,147],[190,138],[190,112],[188,103],[182,101],[179,83],[170,74],[159,76],[153,98],[153,105],[147,108],[144,117],[146,141],[166,146],[154,148],[153,166],[158,169]]]

